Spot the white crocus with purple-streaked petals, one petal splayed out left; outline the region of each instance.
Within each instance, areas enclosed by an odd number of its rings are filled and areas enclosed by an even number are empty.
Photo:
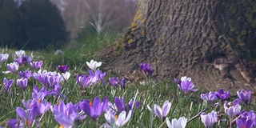
[[[163,103],[162,107],[158,106],[157,104],[154,104],[154,111],[150,108],[150,106],[147,106],[147,108],[155,115],[157,115],[158,118],[162,118],[162,121],[165,121],[167,114],[170,112],[170,106],[171,102],[166,101]]]

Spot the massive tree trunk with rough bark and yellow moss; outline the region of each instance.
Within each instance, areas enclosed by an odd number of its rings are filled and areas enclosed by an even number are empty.
[[[208,90],[255,90],[255,27],[254,0],[140,0],[102,61],[122,73],[152,63],[157,78],[186,75]]]

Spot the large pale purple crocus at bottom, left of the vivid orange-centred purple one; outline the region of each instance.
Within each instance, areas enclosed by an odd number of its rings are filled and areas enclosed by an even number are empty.
[[[71,102],[65,105],[60,100],[58,106],[50,106],[50,110],[54,113],[54,119],[62,127],[71,128],[74,126],[74,121],[78,119],[78,105],[73,105]]]

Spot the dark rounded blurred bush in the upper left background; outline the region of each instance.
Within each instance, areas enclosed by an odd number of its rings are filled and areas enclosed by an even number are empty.
[[[0,30],[2,45],[17,49],[39,49],[67,42],[66,31],[58,8],[49,0],[13,2],[1,0]]]

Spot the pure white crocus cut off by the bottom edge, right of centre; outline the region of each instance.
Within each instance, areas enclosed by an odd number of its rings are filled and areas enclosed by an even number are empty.
[[[187,119],[185,117],[182,118],[174,118],[171,120],[171,123],[169,119],[167,119],[166,123],[169,128],[185,128],[186,127]]]

